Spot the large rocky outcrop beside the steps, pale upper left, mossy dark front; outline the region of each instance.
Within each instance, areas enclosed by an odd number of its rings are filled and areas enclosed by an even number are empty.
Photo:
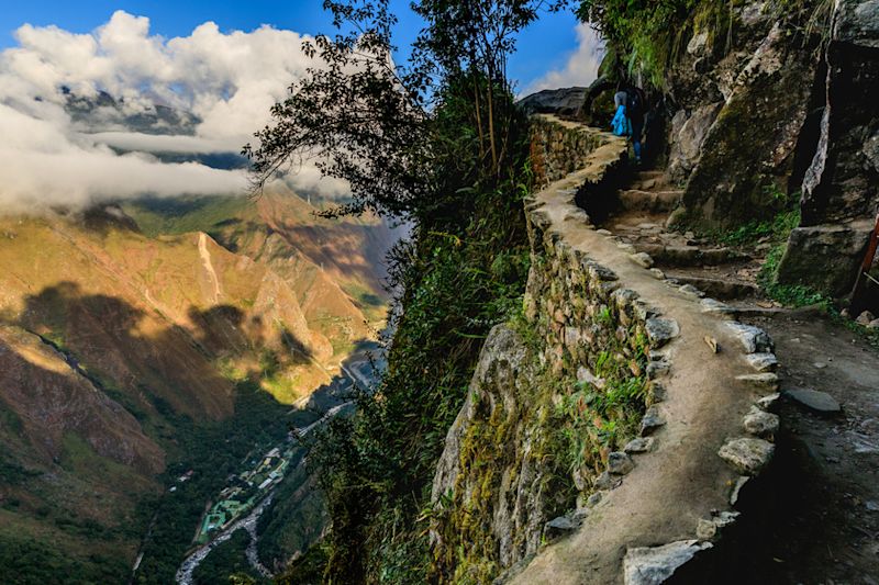
[[[699,87],[700,99],[687,97],[691,105],[676,114],[669,161],[678,179],[692,169],[682,199],[690,224],[732,227],[759,218],[778,205],[767,192],[788,190],[816,59],[799,22],[749,8],[735,16],[728,54],[719,59],[716,49],[696,42],[697,33],[679,66],[691,71],[672,78],[676,97]]]

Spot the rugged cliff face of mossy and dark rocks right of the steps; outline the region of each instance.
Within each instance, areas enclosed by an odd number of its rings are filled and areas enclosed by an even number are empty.
[[[728,229],[800,198],[778,280],[852,291],[879,209],[877,7],[747,2],[698,27],[667,76],[674,222]]]

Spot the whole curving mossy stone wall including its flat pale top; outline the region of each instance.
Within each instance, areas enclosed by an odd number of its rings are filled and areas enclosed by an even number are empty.
[[[437,577],[660,583],[715,545],[771,459],[771,341],[590,225],[576,203],[622,171],[623,140],[534,128],[542,177],[581,167],[526,202],[523,315],[486,340],[437,464]]]

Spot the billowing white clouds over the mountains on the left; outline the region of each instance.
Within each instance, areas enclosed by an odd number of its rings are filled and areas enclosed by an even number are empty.
[[[242,171],[119,155],[108,145],[145,153],[237,151],[312,65],[301,50],[303,37],[292,31],[263,26],[225,34],[207,22],[189,36],[166,40],[149,34],[148,19],[123,11],[89,34],[25,24],[15,38],[16,47],[0,53],[0,211],[145,193],[243,193]],[[104,91],[124,114],[154,112],[160,104],[200,122],[193,136],[179,130],[143,134],[120,127],[119,113],[107,109],[104,127],[84,127],[65,112],[63,87],[90,99]],[[337,181],[320,181],[312,166],[288,181],[332,195],[346,191]]]

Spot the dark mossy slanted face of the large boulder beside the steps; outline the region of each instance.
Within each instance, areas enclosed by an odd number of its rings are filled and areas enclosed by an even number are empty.
[[[766,189],[787,189],[815,75],[815,59],[801,42],[777,22],[744,67],[728,71],[720,88],[725,100],[687,181],[686,223],[728,228],[776,211]],[[703,115],[708,120],[710,110]]]

